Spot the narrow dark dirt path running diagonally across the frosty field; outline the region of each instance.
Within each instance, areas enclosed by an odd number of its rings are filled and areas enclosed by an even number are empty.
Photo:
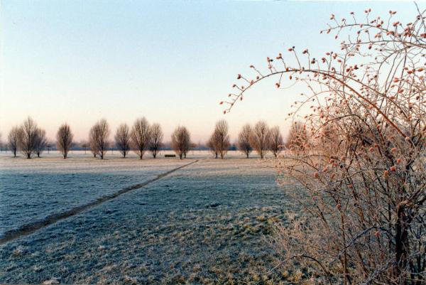
[[[94,206],[100,205],[100,204],[105,203],[109,200],[117,198],[117,197],[119,197],[119,195],[127,193],[131,190],[143,188],[146,185],[153,183],[155,181],[158,181],[161,178],[165,178],[166,176],[170,175],[171,173],[178,171],[179,169],[184,168],[186,166],[190,166],[192,163],[196,163],[197,161],[199,161],[199,160],[192,161],[192,162],[187,163],[183,166],[179,166],[178,168],[173,168],[170,171],[159,174],[157,177],[155,177],[151,180],[123,188],[123,189],[117,191],[116,193],[103,196],[101,198],[98,198],[97,200],[94,200],[93,202],[72,208],[72,209],[67,210],[65,212],[62,212],[62,213],[49,215],[48,217],[45,217],[43,220],[38,220],[36,222],[32,222],[31,224],[23,225],[23,226],[19,227],[17,230],[10,230],[8,232],[5,232],[4,236],[0,238],[0,245],[5,244],[6,242],[11,242],[12,240],[16,240],[20,237],[30,235],[31,233],[35,232],[36,230],[43,229],[43,227],[47,227],[48,225],[52,225],[55,222],[66,219],[67,217],[72,217],[74,215],[80,214],[84,210],[87,210],[89,208],[93,208]]]

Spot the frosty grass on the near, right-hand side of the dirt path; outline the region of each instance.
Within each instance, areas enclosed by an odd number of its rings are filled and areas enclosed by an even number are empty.
[[[0,282],[276,284],[284,273],[268,273],[275,263],[266,237],[292,205],[270,164],[200,160],[8,242]]]

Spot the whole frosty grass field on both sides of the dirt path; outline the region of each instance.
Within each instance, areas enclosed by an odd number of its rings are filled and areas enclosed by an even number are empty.
[[[0,156],[0,238],[23,225],[149,181],[148,185],[0,245],[0,282],[275,284],[268,236],[292,207],[271,161],[101,161],[84,152],[25,160]]]

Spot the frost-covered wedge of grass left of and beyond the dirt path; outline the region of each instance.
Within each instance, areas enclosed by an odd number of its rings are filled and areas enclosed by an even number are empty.
[[[187,161],[91,157],[0,157],[0,238],[48,215],[143,183]]]

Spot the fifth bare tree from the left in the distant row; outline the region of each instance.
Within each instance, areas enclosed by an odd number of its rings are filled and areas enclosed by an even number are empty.
[[[104,159],[109,149],[109,125],[106,119],[101,119],[90,129],[90,149],[94,157],[99,155]]]

